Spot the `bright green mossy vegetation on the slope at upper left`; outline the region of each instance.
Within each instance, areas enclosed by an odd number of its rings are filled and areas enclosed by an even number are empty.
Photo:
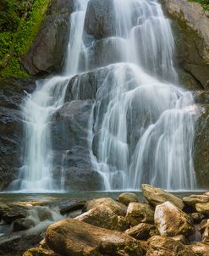
[[[25,77],[19,59],[28,52],[50,0],[1,0],[0,75]]]

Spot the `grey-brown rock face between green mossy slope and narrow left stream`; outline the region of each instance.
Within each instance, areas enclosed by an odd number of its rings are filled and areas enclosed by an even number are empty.
[[[45,20],[29,53],[22,64],[30,75],[56,73],[62,69],[68,43],[69,15],[74,10],[74,0],[52,0]]]

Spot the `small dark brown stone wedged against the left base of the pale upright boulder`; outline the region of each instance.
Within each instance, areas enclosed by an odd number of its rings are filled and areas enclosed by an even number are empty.
[[[138,240],[145,240],[151,237],[151,231],[156,230],[155,225],[140,223],[125,231],[130,237],[134,237]]]

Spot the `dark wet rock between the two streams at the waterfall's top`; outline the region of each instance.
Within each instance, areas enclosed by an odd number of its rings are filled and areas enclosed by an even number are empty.
[[[85,14],[85,31],[101,39],[115,35],[112,0],[91,0]]]

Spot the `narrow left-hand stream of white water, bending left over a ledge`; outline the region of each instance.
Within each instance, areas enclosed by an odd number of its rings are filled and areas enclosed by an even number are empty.
[[[67,53],[70,58],[66,58],[63,75],[37,81],[36,91],[25,98],[24,165],[19,171],[19,179],[10,186],[12,190],[45,192],[56,189],[52,179],[51,118],[64,103],[70,78],[79,71],[87,3],[88,0],[78,0],[71,14]]]

